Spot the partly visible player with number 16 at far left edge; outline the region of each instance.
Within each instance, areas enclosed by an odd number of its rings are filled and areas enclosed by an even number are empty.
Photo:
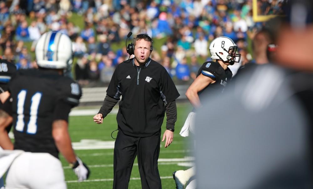
[[[8,82],[10,81],[12,75],[16,72],[15,64],[8,62],[7,60],[0,59],[0,125],[8,125],[5,127],[0,127],[3,129],[0,132],[0,138],[3,140],[10,140],[8,138],[8,133],[10,132],[12,124],[12,116],[9,116],[7,112],[2,110],[3,103],[6,102],[10,93],[8,92]],[[11,105],[9,101],[5,105]],[[13,149],[13,146],[8,146],[8,149]],[[0,147],[0,151],[2,148]],[[3,177],[0,178],[0,189],[4,187]]]

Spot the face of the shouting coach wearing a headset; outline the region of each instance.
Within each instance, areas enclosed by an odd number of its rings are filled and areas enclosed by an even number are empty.
[[[140,65],[146,64],[151,54],[150,46],[151,46],[150,41],[146,41],[144,39],[140,39],[136,41],[135,50],[134,50],[135,64],[136,63]]]

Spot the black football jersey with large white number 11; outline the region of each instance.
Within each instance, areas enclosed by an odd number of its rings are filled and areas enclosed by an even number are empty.
[[[18,70],[9,83],[9,91],[13,99],[14,149],[46,152],[58,158],[52,122],[67,120],[70,108],[79,104],[79,84],[54,70]],[[56,109],[60,105],[70,107],[64,118],[56,116],[64,116]]]

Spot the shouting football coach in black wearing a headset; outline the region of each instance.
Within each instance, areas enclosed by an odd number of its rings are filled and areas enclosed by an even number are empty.
[[[161,125],[166,112],[166,130],[162,141],[166,139],[167,147],[173,141],[177,120],[175,100],[179,93],[166,69],[150,59],[152,49],[152,39],[147,34],[137,35],[128,44],[127,53],[135,57],[116,67],[103,105],[93,118],[94,122],[101,124],[122,97],[116,116],[118,133],[114,146],[114,189],[128,188],[136,155],[142,188],[162,188],[157,167]]]

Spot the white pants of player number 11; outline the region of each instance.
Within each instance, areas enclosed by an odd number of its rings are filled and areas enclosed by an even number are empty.
[[[6,189],[66,189],[60,160],[49,153],[24,152],[8,170]]]

